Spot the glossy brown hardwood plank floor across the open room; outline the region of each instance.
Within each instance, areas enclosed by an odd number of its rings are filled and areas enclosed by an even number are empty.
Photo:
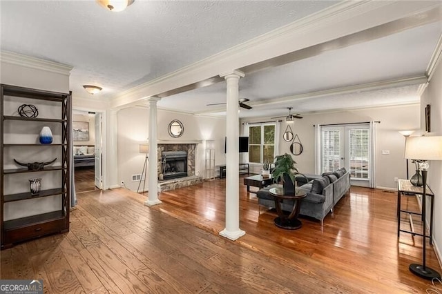
[[[286,231],[240,184],[247,233],[231,242],[218,236],[224,186],[216,179],[167,191],[152,207],[124,188],[81,193],[69,233],[1,251],[1,279],[43,279],[46,293],[425,293],[431,286],[408,271],[421,262],[421,238],[397,238],[395,193],[352,188],[325,226],[302,218],[302,228]],[[403,204],[417,209],[413,197]],[[428,249],[427,265],[441,272]]]

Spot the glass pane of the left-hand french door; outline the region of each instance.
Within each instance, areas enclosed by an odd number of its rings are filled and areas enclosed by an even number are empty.
[[[323,173],[334,172],[339,169],[340,163],[340,131],[323,130],[322,141],[321,159]]]

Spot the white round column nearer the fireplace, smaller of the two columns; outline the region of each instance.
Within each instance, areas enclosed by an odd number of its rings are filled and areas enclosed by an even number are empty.
[[[157,146],[157,102],[161,98],[149,97],[149,181],[148,181],[148,199],[144,204],[147,206],[153,206],[160,204],[158,199],[158,177],[157,177],[157,164],[158,164],[158,146]]]

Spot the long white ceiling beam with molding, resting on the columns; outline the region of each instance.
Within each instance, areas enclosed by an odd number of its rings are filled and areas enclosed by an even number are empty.
[[[112,107],[219,77],[253,63],[350,35],[434,8],[419,1],[343,1],[189,66],[120,93]]]

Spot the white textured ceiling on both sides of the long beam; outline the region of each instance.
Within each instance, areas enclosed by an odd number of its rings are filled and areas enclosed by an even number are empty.
[[[123,12],[108,12],[95,1],[1,1],[0,48],[73,66],[74,99],[111,101],[338,2],[135,0]],[[240,97],[253,109],[240,117],[285,115],[289,106],[308,114],[419,102],[442,33],[442,10],[432,11],[412,24],[395,20],[251,70],[240,80]],[[92,97],[84,84],[104,90]],[[206,104],[226,101],[225,82],[177,92],[158,106],[224,115],[223,106]]]

